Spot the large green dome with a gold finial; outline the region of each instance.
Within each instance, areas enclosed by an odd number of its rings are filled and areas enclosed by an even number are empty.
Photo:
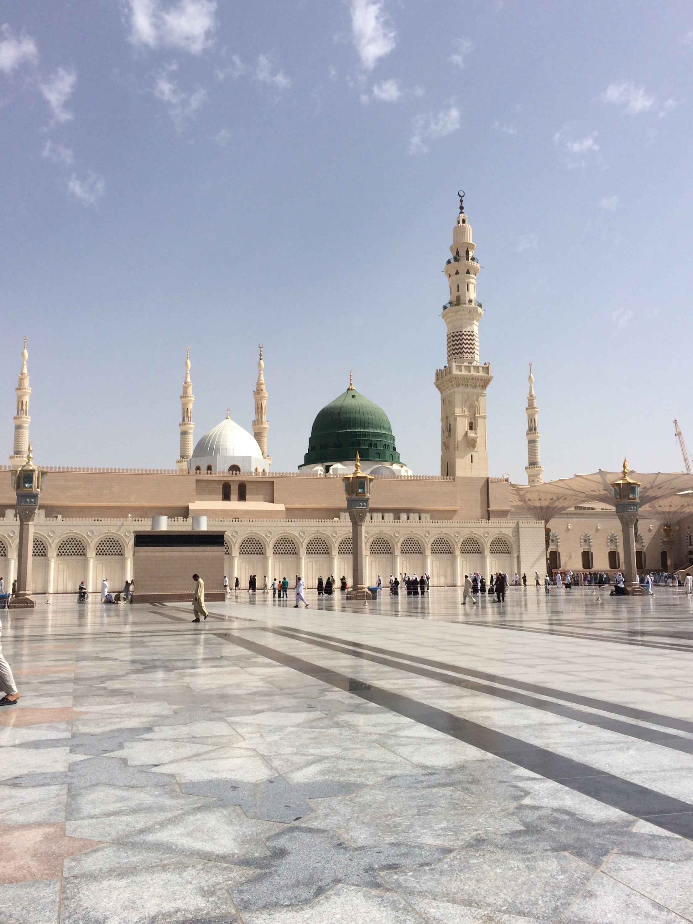
[[[304,465],[346,462],[357,452],[364,462],[400,462],[383,408],[347,388],[313,420]]]

